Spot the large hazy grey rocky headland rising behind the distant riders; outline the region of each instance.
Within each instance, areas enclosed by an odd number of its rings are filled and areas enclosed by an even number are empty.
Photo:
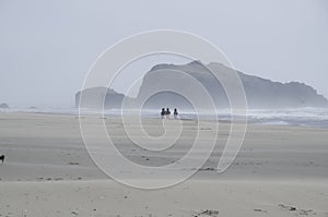
[[[188,83],[181,82],[179,79],[181,75],[179,75],[178,71],[184,72],[200,82],[211,95],[216,107],[230,107],[221,82],[231,79],[229,73],[231,73],[232,69],[221,63],[203,65],[198,61],[185,65],[159,64],[153,67],[143,77],[138,98],[142,98],[143,95],[152,92],[154,87],[165,87],[165,85],[172,85],[173,83],[175,83],[174,85],[188,85]],[[213,76],[211,71],[219,74],[221,79],[220,82]],[[328,100],[324,96],[318,95],[313,87],[304,83],[280,83],[247,75],[242,72],[237,72],[237,74],[243,83],[249,108],[328,107]],[[191,88],[192,87],[190,87],[190,91],[192,91]],[[155,106],[159,108],[159,106],[162,106],[159,104],[162,104],[163,106],[180,106],[179,104],[188,106],[185,104],[185,99],[181,96],[172,92],[157,94],[157,97],[153,96],[148,101],[150,107]]]

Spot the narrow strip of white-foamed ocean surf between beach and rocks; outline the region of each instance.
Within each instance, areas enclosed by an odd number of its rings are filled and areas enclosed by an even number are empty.
[[[32,112],[32,113],[59,113],[59,114],[79,114],[77,108],[10,108],[0,109],[0,112]],[[92,109],[81,110],[82,114],[101,112]],[[130,110],[128,113],[141,113],[147,118],[161,118],[159,110],[142,110],[141,112]],[[231,120],[230,109],[218,110],[218,119],[221,121]],[[120,116],[119,109],[105,110],[105,116]],[[198,114],[192,111],[179,110],[180,119],[196,120],[215,119],[214,114]],[[297,108],[297,109],[249,109],[247,110],[247,121],[253,124],[270,124],[270,125],[302,125],[328,129],[328,108]]]

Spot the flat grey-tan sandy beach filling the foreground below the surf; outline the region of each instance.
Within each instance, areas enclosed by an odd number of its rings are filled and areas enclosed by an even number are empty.
[[[101,117],[84,118],[93,124]],[[197,131],[196,121],[183,121],[177,147],[159,155],[134,147],[117,118],[104,121],[118,149],[147,166],[177,160]],[[145,119],[143,124],[160,135],[161,121]],[[211,124],[200,130],[211,134]],[[0,155],[5,155],[0,216],[328,216],[328,130],[250,124],[241,153],[221,174],[216,165],[229,129],[220,123],[214,152],[191,179],[138,190],[95,166],[77,116],[0,113]]]

